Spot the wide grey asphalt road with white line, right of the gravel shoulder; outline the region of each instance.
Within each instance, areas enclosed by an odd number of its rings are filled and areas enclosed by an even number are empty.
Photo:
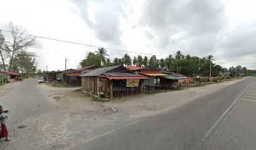
[[[256,79],[247,78],[71,149],[255,149],[255,114]]]

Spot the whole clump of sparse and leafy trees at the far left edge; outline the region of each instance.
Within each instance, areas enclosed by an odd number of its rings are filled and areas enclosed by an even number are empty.
[[[28,52],[35,44],[35,37],[28,36],[26,29],[10,22],[9,34],[0,30],[0,71],[14,71],[23,75],[36,73],[36,55]]]

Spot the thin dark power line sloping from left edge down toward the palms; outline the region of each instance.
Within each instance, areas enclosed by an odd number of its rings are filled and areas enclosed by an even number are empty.
[[[3,29],[0,29],[0,31],[11,32],[11,31],[3,30]],[[16,33],[18,33],[18,32],[16,32]],[[95,45],[91,45],[91,44],[84,44],[84,43],[80,43],[80,42],[72,42],[72,41],[65,41],[65,40],[61,40],[61,39],[53,39],[53,38],[50,38],[50,37],[35,36],[35,35],[32,35],[32,34],[23,34],[23,35],[38,37],[38,38],[41,38],[41,39],[49,39],[49,40],[59,41],[59,42],[68,42],[68,43],[71,43],[71,44],[78,44],[78,45],[83,45],[83,46],[90,46],[90,47],[97,47],[97,48],[102,47],[102,46],[95,46]],[[102,47],[102,48],[109,49],[109,50],[114,50],[114,51],[122,51],[122,52],[127,52],[127,53],[144,54],[144,55],[150,55],[150,56],[154,55],[154,54],[147,54],[147,53],[138,53],[138,52],[133,52],[133,51],[125,51],[125,50],[121,50],[121,49],[113,49],[113,48],[108,48],[108,47]],[[161,55],[155,55],[155,56],[168,57],[168,56],[161,56]]]

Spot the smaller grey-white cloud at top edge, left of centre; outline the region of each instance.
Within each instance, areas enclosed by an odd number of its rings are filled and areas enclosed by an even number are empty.
[[[73,1],[78,13],[100,41],[120,46],[120,17],[125,18],[124,1]]]

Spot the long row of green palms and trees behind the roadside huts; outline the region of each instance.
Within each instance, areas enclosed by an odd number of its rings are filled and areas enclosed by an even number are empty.
[[[97,67],[106,67],[106,66],[117,66],[117,65],[134,65],[139,61],[141,68],[148,69],[163,69],[165,71],[170,71],[173,73],[192,75],[192,74],[201,74],[203,76],[210,76],[213,74],[218,74],[220,71],[230,72],[236,74],[237,76],[246,73],[247,68],[242,66],[232,66],[231,68],[222,68],[220,65],[213,63],[215,59],[213,56],[208,55],[203,58],[198,56],[191,56],[190,54],[183,54],[181,51],[176,51],[176,54],[169,54],[166,58],[157,59],[156,55],[148,58],[147,56],[134,56],[131,58],[129,54],[124,54],[122,58],[114,58],[112,61],[108,58],[107,50],[103,47],[99,47],[98,51],[95,53],[88,53],[85,56],[79,66],[85,67],[95,64]]]

